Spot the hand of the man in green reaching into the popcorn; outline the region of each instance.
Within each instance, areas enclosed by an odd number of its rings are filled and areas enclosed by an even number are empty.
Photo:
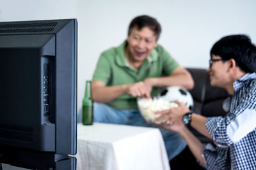
[[[131,84],[127,90],[127,94],[131,94],[134,97],[147,97],[150,99],[150,90],[143,81]]]

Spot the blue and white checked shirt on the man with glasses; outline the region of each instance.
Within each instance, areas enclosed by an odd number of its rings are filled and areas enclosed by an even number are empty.
[[[256,73],[234,82],[225,117],[207,118],[216,146],[205,145],[206,169],[256,169]]]

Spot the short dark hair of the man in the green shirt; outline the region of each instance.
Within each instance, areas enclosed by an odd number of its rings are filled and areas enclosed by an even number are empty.
[[[157,22],[156,18],[149,17],[148,15],[141,15],[134,18],[128,29],[128,35],[131,34],[131,31],[134,27],[137,27],[141,30],[143,27],[149,27],[152,31],[155,32],[156,39],[159,39],[161,33],[161,25]]]

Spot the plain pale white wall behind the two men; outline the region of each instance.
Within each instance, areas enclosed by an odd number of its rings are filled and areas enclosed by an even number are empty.
[[[100,53],[124,41],[137,15],[159,20],[159,43],[182,66],[206,68],[209,50],[222,36],[248,34],[256,42],[255,8],[254,0],[0,0],[0,21],[77,18],[80,110],[85,81],[92,79]]]

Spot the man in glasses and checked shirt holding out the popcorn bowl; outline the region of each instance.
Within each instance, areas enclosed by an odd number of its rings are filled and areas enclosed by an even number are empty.
[[[226,36],[212,46],[207,69],[211,85],[232,96],[223,106],[225,117],[206,118],[182,103],[159,111],[156,121],[185,139],[198,162],[206,169],[256,169],[256,47],[244,35]],[[186,127],[190,124],[215,145],[203,145]]]

